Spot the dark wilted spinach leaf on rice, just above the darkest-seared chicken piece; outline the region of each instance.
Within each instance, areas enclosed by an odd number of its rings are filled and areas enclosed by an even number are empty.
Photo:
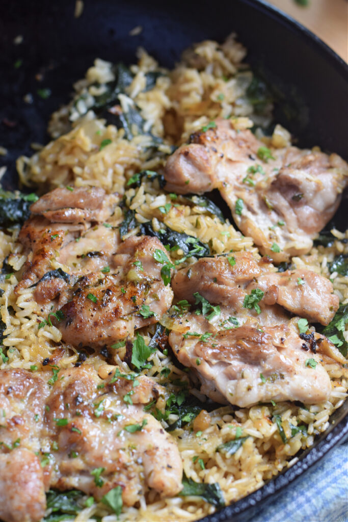
[[[154,231],[150,221],[140,224],[141,234],[151,235],[158,238],[165,246],[169,248],[181,248],[185,256],[191,255],[196,257],[205,257],[210,254],[209,246],[191,235],[184,232],[175,232],[161,223],[159,231]]]

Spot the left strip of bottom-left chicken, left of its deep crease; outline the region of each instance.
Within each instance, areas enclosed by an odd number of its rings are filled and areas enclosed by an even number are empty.
[[[41,520],[46,506],[40,432],[48,386],[22,369],[0,371],[0,519]]]

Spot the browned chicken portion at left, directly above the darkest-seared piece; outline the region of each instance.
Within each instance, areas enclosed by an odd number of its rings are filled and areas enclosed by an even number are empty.
[[[106,195],[104,189],[95,187],[73,191],[56,188],[38,199],[30,207],[34,216],[23,224],[19,233],[19,241],[28,251],[28,260],[15,291],[18,293],[37,283],[52,270],[53,262],[67,265],[66,271],[77,275],[106,266],[116,251],[119,234],[102,225],[90,227],[92,223],[110,218],[117,200],[118,196]],[[46,280],[37,289],[38,302],[50,301],[63,289],[62,281]]]

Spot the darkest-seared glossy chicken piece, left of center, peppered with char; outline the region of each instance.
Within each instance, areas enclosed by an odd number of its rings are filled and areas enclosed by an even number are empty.
[[[171,306],[173,292],[164,286],[155,250],[166,253],[157,238],[129,238],[114,258],[115,264],[117,259],[124,263],[115,274],[97,272],[79,279],[61,309],[64,318],[57,326],[62,339],[101,348],[157,322]]]

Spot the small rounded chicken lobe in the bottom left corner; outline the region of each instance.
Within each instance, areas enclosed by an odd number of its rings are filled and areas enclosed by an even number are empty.
[[[41,520],[46,495],[39,458],[28,449],[0,454],[0,519],[4,522]]]

